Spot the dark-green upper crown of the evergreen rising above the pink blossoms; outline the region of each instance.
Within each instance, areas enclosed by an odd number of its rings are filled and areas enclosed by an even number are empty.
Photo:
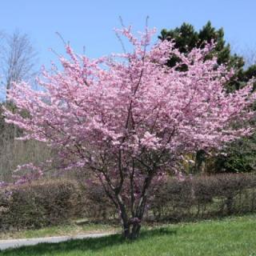
[[[226,43],[224,39],[224,30],[222,28],[217,30],[211,25],[211,22],[207,22],[199,31],[195,30],[191,24],[183,23],[182,26],[176,27],[174,30],[162,30],[158,38],[174,40],[175,47],[184,54],[189,53],[194,47],[205,46],[206,42],[215,42],[215,48],[207,58],[215,56],[218,58],[219,65],[226,64],[234,69],[234,77],[226,85],[230,91],[242,88],[256,74],[256,66],[250,66],[244,70],[244,59],[231,53],[230,44]],[[176,56],[170,56],[167,65],[174,66],[178,61]],[[186,67],[183,66],[180,70],[186,70]]]

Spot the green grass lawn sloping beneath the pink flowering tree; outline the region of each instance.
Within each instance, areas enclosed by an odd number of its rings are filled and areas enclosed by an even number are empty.
[[[176,224],[142,231],[135,242],[120,235],[6,250],[15,256],[256,256],[256,215]]]

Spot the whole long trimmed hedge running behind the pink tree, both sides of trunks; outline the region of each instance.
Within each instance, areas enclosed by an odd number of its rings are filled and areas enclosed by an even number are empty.
[[[82,179],[80,180],[82,182]],[[194,221],[256,212],[255,174],[168,178],[154,189],[146,220]],[[117,214],[102,186],[73,179],[38,181],[0,191],[0,230],[40,228],[72,218],[110,222]]]

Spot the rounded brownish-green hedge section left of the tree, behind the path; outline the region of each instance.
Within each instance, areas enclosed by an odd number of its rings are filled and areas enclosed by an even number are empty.
[[[78,215],[81,191],[74,181],[41,181],[8,188],[0,194],[1,230],[40,228]]]

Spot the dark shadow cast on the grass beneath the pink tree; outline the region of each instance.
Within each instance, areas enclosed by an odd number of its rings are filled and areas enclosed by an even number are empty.
[[[143,230],[139,238],[133,242],[147,240],[154,238],[154,236],[172,235],[175,234],[176,230],[170,230],[167,228],[158,228],[154,230]],[[118,246],[122,244],[133,243],[122,238],[121,234],[112,234],[110,236],[102,238],[85,238],[70,240],[67,242],[59,243],[41,243],[37,246],[22,246],[17,249],[8,249],[0,251],[0,255],[46,255],[46,254],[59,254],[62,252],[69,253],[72,250],[84,251],[93,250],[106,250],[108,247]]]

